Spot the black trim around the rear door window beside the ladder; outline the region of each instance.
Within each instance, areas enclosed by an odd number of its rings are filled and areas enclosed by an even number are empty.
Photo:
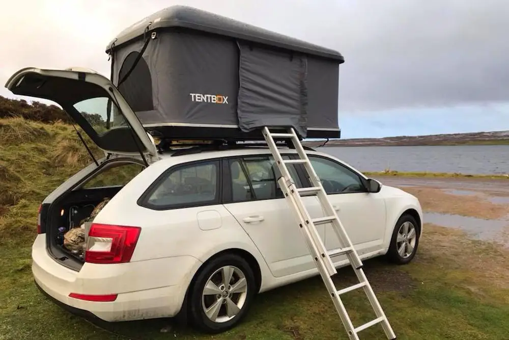
[[[288,156],[290,159],[296,159],[297,154],[296,153],[281,153],[281,156]],[[233,200],[233,189],[232,189],[232,174],[230,170],[230,164],[234,161],[243,160],[245,158],[257,158],[257,157],[266,157],[266,158],[273,158],[272,153],[253,153],[253,154],[242,154],[242,155],[236,155],[236,156],[227,156],[223,158],[224,166],[223,166],[223,204],[230,204],[230,203],[245,203],[245,202],[258,202],[258,201],[268,201],[268,200],[274,200],[274,199],[286,199],[284,195],[281,197],[275,197],[275,198],[256,198],[256,194],[254,195],[255,198],[253,199],[246,199],[242,201],[235,201]],[[296,164],[299,165],[299,164]],[[242,169],[242,171],[244,171]],[[248,177],[248,174],[244,172],[244,175],[246,178]],[[300,176],[300,170],[298,167],[296,167],[296,175],[298,179],[300,180],[301,184],[303,184],[302,177]],[[274,176],[275,178],[275,176]],[[277,178],[275,178],[277,182]],[[250,181],[250,179],[248,179]],[[276,186],[277,187],[277,186]]]

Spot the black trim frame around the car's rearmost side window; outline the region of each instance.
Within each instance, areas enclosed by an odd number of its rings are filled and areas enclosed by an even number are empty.
[[[180,204],[166,204],[166,205],[155,205],[149,203],[149,197],[154,193],[154,191],[162,184],[162,182],[172,173],[178,171],[183,168],[192,167],[200,164],[214,164],[216,166],[216,195],[213,201],[207,202],[196,202],[196,203],[180,203]],[[209,206],[209,205],[217,205],[222,202],[222,159],[221,158],[213,158],[199,161],[191,161],[176,164],[174,166],[169,167],[164,170],[157,178],[152,182],[152,184],[145,190],[145,192],[138,198],[136,203],[139,206],[144,208],[148,208],[150,210],[156,211],[167,211],[167,210],[175,210],[182,208],[191,208],[198,206]]]

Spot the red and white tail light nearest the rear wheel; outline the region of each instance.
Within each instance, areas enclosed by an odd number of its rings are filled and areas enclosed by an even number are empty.
[[[88,235],[85,262],[96,264],[129,262],[141,230],[140,227],[93,223]]]

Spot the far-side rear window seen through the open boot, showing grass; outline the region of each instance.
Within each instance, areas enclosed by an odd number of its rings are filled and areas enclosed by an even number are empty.
[[[137,163],[121,164],[105,169],[83,185],[83,189],[125,186],[145,167]]]

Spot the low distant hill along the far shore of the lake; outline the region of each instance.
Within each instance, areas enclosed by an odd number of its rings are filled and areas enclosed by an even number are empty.
[[[305,142],[317,147],[323,142]],[[385,138],[354,138],[329,141],[325,146],[416,146],[416,145],[509,145],[509,130],[444,134],[427,136],[398,136]]]

